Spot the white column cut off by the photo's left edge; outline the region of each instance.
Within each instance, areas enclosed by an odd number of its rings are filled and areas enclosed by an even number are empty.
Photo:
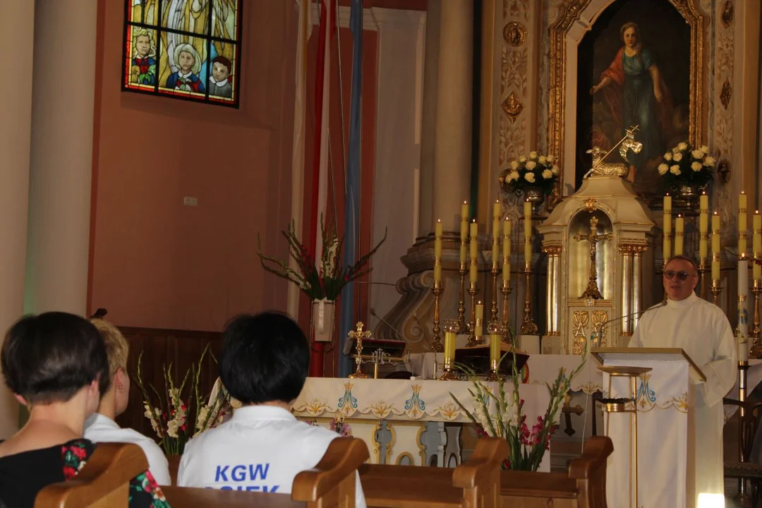
[[[5,330],[24,310],[24,263],[27,253],[27,198],[29,145],[32,123],[32,60],[34,58],[34,2],[6,0],[0,18],[11,20],[0,31],[7,69],[14,78],[0,83],[0,343]],[[18,402],[0,383],[0,439],[18,429]]]

